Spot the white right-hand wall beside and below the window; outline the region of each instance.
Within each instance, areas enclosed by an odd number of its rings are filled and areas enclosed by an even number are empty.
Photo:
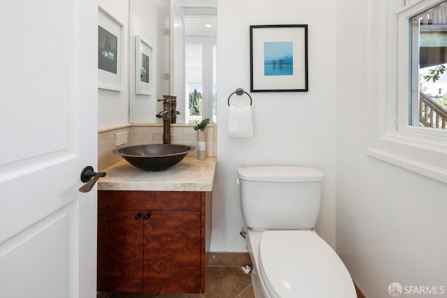
[[[444,297],[447,185],[366,154],[383,119],[374,96],[383,88],[380,73],[369,76],[381,61],[368,68],[367,52],[374,56],[384,38],[372,34],[384,6],[376,0],[337,6],[337,253],[368,298],[390,297],[392,282],[444,286],[444,295],[434,295]]]

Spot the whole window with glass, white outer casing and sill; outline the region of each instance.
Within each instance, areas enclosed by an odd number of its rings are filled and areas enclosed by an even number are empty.
[[[371,83],[369,98],[381,98],[379,137],[372,138],[367,154],[445,183],[446,3],[372,1],[367,36],[369,74],[380,77],[377,89]]]

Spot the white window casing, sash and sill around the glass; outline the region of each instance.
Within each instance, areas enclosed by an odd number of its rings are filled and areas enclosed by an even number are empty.
[[[368,43],[379,42],[379,51],[374,46],[367,53],[368,66],[382,75],[383,89],[369,91],[369,100],[378,95],[379,135],[372,137],[372,146],[367,154],[407,170],[418,172],[432,179],[447,183],[447,130],[409,125],[411,117],[411,30],[410,20],[430,7],[445,0],[386,1],[370,4],[369,8],[380,15],[377,25],[374,13],[369,14]],[[371,2],[369,2],[371,3]],[[377,27],[379,27],[377,29]],[[376,54],[376,53],[379,54]],[[397,63],[396,63],[397,61]],[[373,79],[373,77],[371,78]],[[374,82],[374,80],[373,80]],[[372,84],[372,83],[369,83]],[[369,86],[369,90],[374,90]],[[378,93],[378,94],[374,94]]]

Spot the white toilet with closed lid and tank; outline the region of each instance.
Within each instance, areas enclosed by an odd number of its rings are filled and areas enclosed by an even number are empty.
[[[237,170],[256,298],[357,297],[342,260],[313,230],[321,181],[309,167]]]

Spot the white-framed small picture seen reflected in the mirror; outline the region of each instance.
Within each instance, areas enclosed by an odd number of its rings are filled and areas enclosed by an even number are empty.
[[[135,36],[135,94],[152,95],[152,52],[154,48]]]

